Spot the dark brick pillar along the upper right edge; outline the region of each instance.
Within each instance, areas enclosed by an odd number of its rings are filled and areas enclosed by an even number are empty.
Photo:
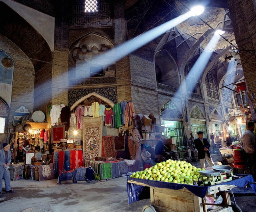
[[[248,96],[252,101],[252,119],[256,120],[256,12],[252,0],[228,0],[230,18],[242,62],[244,78],[248,87]]]

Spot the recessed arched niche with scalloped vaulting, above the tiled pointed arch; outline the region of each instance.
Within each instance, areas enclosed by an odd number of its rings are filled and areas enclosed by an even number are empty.
[[[70,78],[84,79],[104,75],[115,77],[115,65],[108,65],[104,57],[99,57],[112,48],[114,44],[110,40],[94,33],[74,42],[69,50]]]

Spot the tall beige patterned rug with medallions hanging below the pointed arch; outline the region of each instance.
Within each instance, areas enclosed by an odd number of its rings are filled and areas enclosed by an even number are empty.
[[[102,116],[98,118],[83,117],[83,151],[85,160],[101,157],[102,151]]]

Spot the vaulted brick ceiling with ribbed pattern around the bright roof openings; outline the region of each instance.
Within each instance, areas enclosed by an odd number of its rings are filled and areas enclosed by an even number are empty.
[[[127,2],[128,39],[131,39],[188,12],[187,8],[191,8],[196,1],[130,0]],[[195,62],[212,38],[214,31],[208,25],[214,29],[224,30],[226,32],[223,34],[224,38],[236,45],[226,0],[211,0],[207,3],[204,13],[200,15],[203,21],[198,17],[191,17],[170,29],[166,34],[149,42],[134,54],[154,61],[156,52],[165,50],[173,57],[180,74],[183,74],[185,65]],[[225,74],[234,75],[234,72],[227,73],[228,61],[224,61],[226,54],[230,55],[231,48],[226,40],[220,39],[205,69],[207,72],[212,72],[217,83],[223,79]],[[242,76],[240,74],[226,77],[230,79],[227,83],[238,81]]]

